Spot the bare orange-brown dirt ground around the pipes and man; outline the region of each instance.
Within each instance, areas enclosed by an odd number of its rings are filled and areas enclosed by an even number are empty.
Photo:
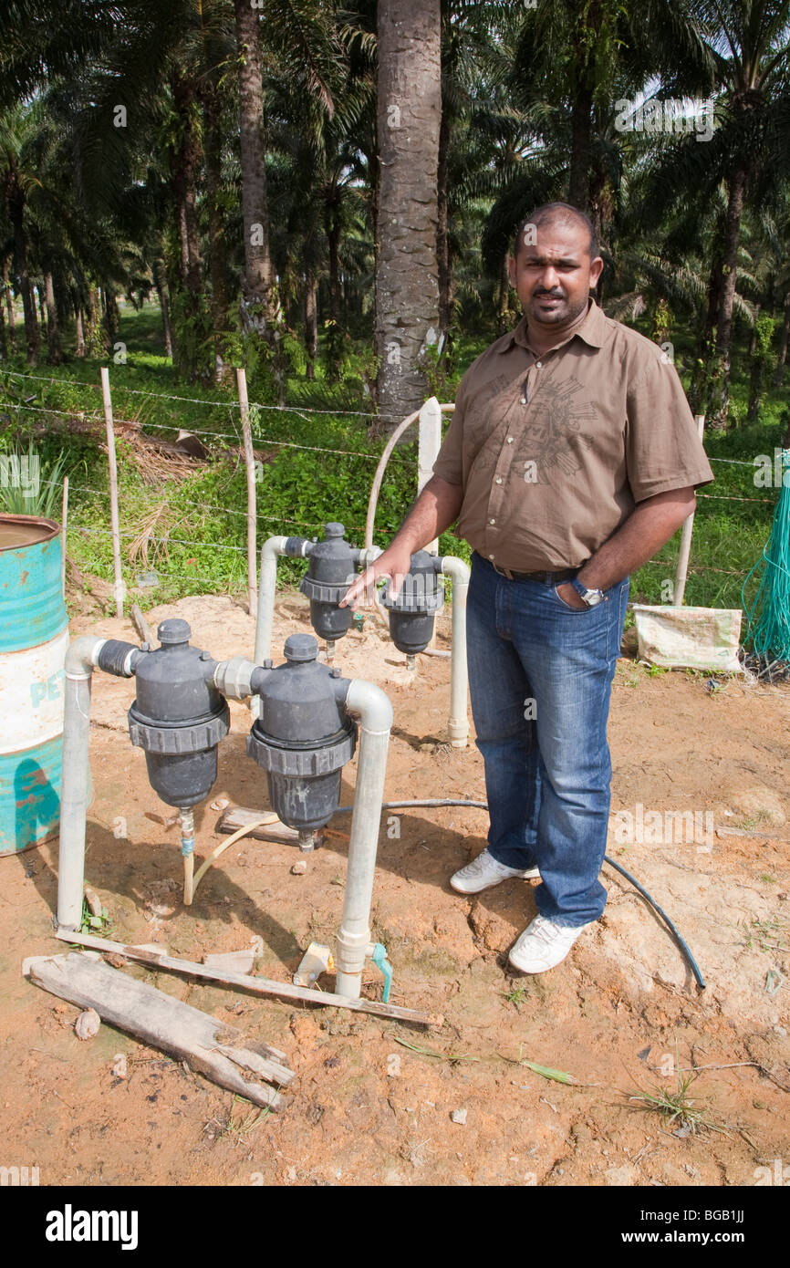
[[[252,652],[254,624],[230,598],[185,598],[147,615],[152,625],[186,618],[193,642],[218,658]],[[275,657],[289,633],[308,629],[307,602],[280,596]],[[71,630],[137,642],[131,624],[98,619],[89,604],[76,615],[72,605]],[[443,616],[440,647],[448,633]],[[387,800],[484,800],[474,744],[444,742],[448,661],[420,657],[410,673],[370,618],[339,644],[337,663],[392,700]],[[185,908],[178,829],[147,817],[170,810],[129,744],[132,696],[132,682],[95,675],[86,880],[108,908],[110,937],[199,960],[260,936],[259,971],[290,980],[309,941],[332,942],[345,839],[328,837],[306,875],[292,872],[303,857],[295,847],[242,839]],[[42,1184],[754,1184],[756,1168],[787,1159],[789,705],[786,686],[711,690],[682,672],[652,677],[633,654],[618,666],[609,852],[675,919],[704,992],[662,921],[610,867],[606,913],[564,964],[536,978],[508,973],[535,883],[474,899],[450,890],[450,872],[484,843],[484,812],[464,808],[405,810],[383,828],[373,900],[374,937],[394,967],[392,1002],[441,1013],[440,1028],[123,970],[283,1049],[297,1078],[279,1113],[107,1025],[80,1042],[79,1011],[20,971],[25,956],[63,950],[52,937],[57,842],[1,858],[0,1136],[20,1155],[4,1161],[37,1165]],[[212,798],[266,809],[265,776],[245,756],[249,714],[232,704],[231,715]],[[351,762],[344,804],[354,777]],[[639,805],[709,812],[713,836],[701,847],[624,843],[616,812],[638,815]],[[222,839],[218,818],[198,808],[198,858]],[[349,817],[332,827],[347,831]],[[380,981],[370,966],[364,992],[380,998]],[[331,975],[322,985],[331,989]],[[676,1092],[676,1063],[697,1073],[687,1097],[708,1126],[694,1132],[629,1099]]]

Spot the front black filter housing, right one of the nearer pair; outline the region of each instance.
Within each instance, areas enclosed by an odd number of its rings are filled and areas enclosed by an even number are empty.
[[[282,822],[316,832],[340,804],[356,723],[342,709],[339,676],[316,659],[312,634],[292,634],[284,652],[285,664],[261,687],[261,715],[247,737],[247,753],[266,771],[271,809]]]

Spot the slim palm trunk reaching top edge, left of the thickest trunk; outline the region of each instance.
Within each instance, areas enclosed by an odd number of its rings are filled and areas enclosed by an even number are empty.
[[[264,143],[264,89],[257,10],[250,0],[233,0],[238,44],[238,99],[241,143],[241,209],[245,240],[242,294],[249,306],[260,306],[269,317],[271,257],[269,255],[269,203]]]

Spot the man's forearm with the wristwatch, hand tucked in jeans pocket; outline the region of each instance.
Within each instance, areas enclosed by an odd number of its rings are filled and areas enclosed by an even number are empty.
[[[657,493],[640,502],[615,535],[587,560],[578,579],[588,590],[615,586],[652,559],[695,506],[692,487]]]

